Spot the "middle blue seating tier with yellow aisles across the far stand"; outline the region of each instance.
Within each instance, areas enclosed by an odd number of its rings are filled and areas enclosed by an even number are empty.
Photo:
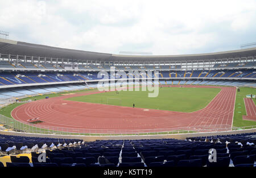
[[[138,66],[133,67],[138,68]],[[159,70],[160,71],[160,70]],[[147,71],[145,71],[148,73]],[[100,80],[103,76],[98,78],[97,72],[12,72],[0,73],[1,85],[15,85],[15,84],[34,84],[47,82],[63,82],[63,81],[77,81],[77,80]],[[147,76],[147,74],[144,74]],[[115,76],[116,78],[119,78]],[[134,76],[133,76],[134,77]],[[139,77],[138,75],[135,77]],[[155,77],[155,76],[153,76]],[[159,77],[162,78],[256,78],[256,72],[253,69],[240,70],[214,70],[214,71],[160,71]],[[109,74],[110,78],[110,74]]]

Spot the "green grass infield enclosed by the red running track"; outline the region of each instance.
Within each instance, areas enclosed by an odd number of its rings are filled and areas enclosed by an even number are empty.
[[[130,106],[192,112],[203,109],[220,92],[219,88],[159,88],[158,97],[148,97],[148,92],[120,91],[72,97],[67,100],[92,102],[97,104]]]

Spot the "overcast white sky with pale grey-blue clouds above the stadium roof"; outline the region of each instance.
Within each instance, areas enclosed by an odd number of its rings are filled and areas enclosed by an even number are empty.
[[[84,51],[181,55],[256,42],[256,1],[0,0],[9,39]]]

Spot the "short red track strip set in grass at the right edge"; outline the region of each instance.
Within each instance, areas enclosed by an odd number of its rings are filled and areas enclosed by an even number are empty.
[[[243,115],[243,119],[249,121],[256,121],[256,106],[251,98],[243,98],[245,101],[245,109],[247,115]]]

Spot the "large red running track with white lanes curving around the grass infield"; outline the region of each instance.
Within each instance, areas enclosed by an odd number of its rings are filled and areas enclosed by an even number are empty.
[[[170,87],[179,87],[179,85]],[[232,127],[235,87],[194,86],[182,87],[221,88],[221,91],[204,108],[192,113],[92,104],[67,101],[65,98],[101,93],[78,93],[32,101],[16,107],[11,115],[27,123],[27,119],[40,118],[37,127],[80,133],[141,133],[145,131],[171,131],[183,128],[217,129]],[[226,129],[226,130],[229,130]],[[224,129],[225,130],[225,129]]]

